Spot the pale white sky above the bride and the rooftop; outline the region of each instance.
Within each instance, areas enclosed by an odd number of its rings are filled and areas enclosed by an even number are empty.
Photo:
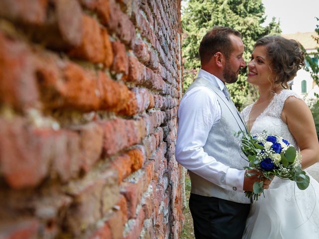
[[[272,17],[280,20],[283,34],[315,31],[319,24],[319,0],[262,0],[266,23]]]

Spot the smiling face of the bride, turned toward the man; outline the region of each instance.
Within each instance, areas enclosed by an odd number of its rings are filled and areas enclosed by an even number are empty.
[[[256,46],[248,63],[247,81],[257,86],[271,86],[274,73],[271,70],[271,60],[267,57],[265,46]]]

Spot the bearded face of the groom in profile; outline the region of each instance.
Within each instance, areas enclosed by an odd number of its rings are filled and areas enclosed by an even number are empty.
[[[231,40],[233,51],[228,59],[226,59],[223,78],[226,83],[234,83],[238,79],[240,68],[246,66],[243,58],[244,44],[238,36],[230,35],[229,38]]]

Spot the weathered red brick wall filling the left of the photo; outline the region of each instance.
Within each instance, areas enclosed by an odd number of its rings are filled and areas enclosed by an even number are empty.
[[[0,0],[0,238],[179,238],[180,0]]]

